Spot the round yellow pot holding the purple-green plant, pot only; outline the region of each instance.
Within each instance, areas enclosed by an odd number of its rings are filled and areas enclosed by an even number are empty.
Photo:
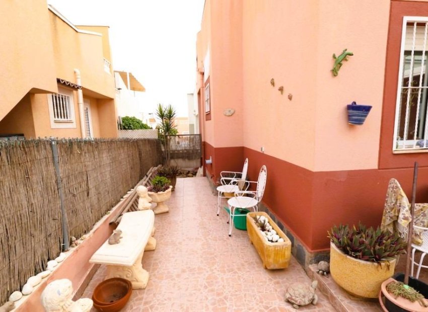
[[[396,260],[374,263],[343,254],[330,243],[330,274],[347,292],[365,298],[377,298],[382,282],[394,274]]]

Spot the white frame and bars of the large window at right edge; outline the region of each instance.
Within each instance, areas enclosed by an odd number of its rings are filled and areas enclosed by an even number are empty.
[[[405,16],[403,17],[403,25],[402,25],[402,32],[401,32],[401,48],[400,48],[400,63],[399,63],[399,70],[398,70],[398,83],[397,83],[397,100],[396,100],[396,106],[395,106],[395,120],[394,120],[394,137],[393,137],[393,145],[392,145],[392,151],[393,153],[411,153],[411,152],[428,152],[428,141],[426,142],[425,146],[426,147],[419,147],[416,145],[416,142],[419,141],[419,139],[414,139],[414,137],[412,139],[406,139],[406,140],[398,140],[398,128],[399,128],[399,118],[400,118],[400,104],[401,104],[401,93],[402,93],[402,88],[405,87],[402,85],[404,79],[403,79],[403,70],[404,70],[404,61],[405,61],[405,46],[406,46],[406,29],[407,29],[407,23],[428,23],[428,17],[420,17],[420,16]],[[425,32],[426,32],[426,28],[425,28]],[[428,42],[428,34],[426,34],[424,36],[424,48],[422,50],[422,66],[421,66],[421,73],[423,72],[424,67],[426,67],[426,63],[424,60],[423,55],[428,56],[428,49],[426,49],[426,43]],[[414,43],[412,42],[412,45]],[[413,57],[413,51],[415,51],[414,46],[412,47],[412,59],[411,59],[411,69],[410,69],[410,73],[413,75],[413,61],[414,61],[414,57]],[[427,60],[428,62],[428,60]],[[423,67],[423,68],[422,68]],[[427,74],[425,73],[425,79],[427,79]],[[410,78],[409,78],[410,79]],[[423,87],[423,86],[422,86]],[[419,87],[417,87],[419,88]],[[421,91],[418,94],[418,98],[421,94]],[[419,99],[420,100],[420,99]],[[408,104],[406,103],[406,109],[408,108]],[[417,107],[417,112],[416,112],[416,120],[417,117],[419,116],[419,107]],[[406,117],[407,119],[407,112],[406,112]],[[408,121],[407,121],[408,122]],[[404,127],[406,127],[406,122]],[[426,107],[426,111],[425,111],[425,129],[424,129],[424,140],[428,140],[428,132],[427,132],[427,128],[428,128],[428,105]],[[409,136],[409,134],[406,134],[407,137]],[[409,147],[410,146],[410,147]]]

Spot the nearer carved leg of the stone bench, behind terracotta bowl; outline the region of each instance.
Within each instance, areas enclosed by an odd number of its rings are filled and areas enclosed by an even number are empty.
[[[149,272],[142,268],[141,259],[143,254],[144,250],[130,267],[107,265],[107,276],[105,279],[121,277],[132,282],[132,289],[146,288],[149,282]]]

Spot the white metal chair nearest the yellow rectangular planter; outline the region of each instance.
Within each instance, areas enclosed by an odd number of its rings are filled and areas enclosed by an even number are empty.
[[[232,236],[233,229],[233,218],[235,216],[242,216],[244,214],[235,214],[236,208],[252,209],[258,211],[258,203],[261,201],[266,186],[267,169],[266,166],[262,166],[260,169],[259,177],[257,182],[247,181],[250,184],[256,184],[255,191],[236,191],[235,197],[228,200],[229,206],[229,236]]]

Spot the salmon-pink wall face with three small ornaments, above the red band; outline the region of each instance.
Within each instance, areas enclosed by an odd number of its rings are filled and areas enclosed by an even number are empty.
[[[251,0],[244,1],[243,10],[243,145],[263,146],[271,157],[309,170],[314,167],[318,6]]]

